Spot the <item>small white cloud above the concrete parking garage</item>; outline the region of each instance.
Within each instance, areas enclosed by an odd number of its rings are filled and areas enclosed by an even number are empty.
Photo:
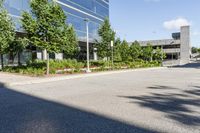
[[[191,25],[191,22],[185,18],[177,18],[174,20],[165,21],[163,26],[167,30],[177,30],[180,29],[181,26],[188,26]]]

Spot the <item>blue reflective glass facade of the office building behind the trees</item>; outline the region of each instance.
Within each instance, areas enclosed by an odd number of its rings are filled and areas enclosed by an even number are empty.
[[[29,11],[30,0],[5,0],[13,20],[16,22],[16,30],[21,31],[20,15],[22,11]],[[56,1],[67,15],[67,22],[72,24],[80,40],[85,39],[86,24],[89,21],[90,40],[98,39],[98,27],[106,17],[109,17],[109,0],[57,0]]]

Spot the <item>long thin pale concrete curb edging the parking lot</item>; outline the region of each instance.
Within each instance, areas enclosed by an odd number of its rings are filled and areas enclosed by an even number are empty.
[[[103,76],[103,75],[127,73],[127,72],[134,72],[134,71],[157,70],[157,69],[165,69],[165,68],[167,68],[167,67],[140,68],[140,69],[131,69],[131,70],[119,70],[119,71],[106,71],[106,72],[97,72],[97,73],[89,73],[89,74],[77,74],[77,75],[70,75],[70,76],[68,75],[68,76],[61,76],[61,77],[40,78],[40,79],[22,81],[22,82],[0,83],[0,86],[1,86],[1,84],[3,87],[30,85],[30,84],[63,81],[63,80],[69,80],[69,79],[87,78],[87,77],[93,77],[93,76]]]

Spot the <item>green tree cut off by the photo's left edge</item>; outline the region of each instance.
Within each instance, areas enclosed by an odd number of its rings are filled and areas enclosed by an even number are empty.
[[[0,0],[0,55],[1,66],[4,68],[3,54],[6,53],[6,49],[15,38],[15,26],[8,15],[7,10],[3,6],[4,0]]]

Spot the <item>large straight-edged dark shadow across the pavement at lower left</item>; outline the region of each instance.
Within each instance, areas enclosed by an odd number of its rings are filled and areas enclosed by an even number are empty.
[[[106,132],[156,131],[0,87],[0,133]]]

